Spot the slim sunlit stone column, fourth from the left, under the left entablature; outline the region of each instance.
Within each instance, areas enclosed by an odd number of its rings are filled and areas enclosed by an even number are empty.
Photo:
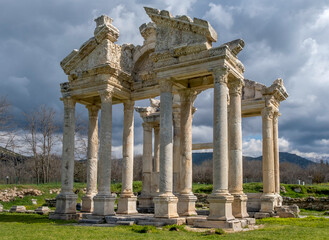
[[[137,197],[133,193],[134,175],[134,101],[125,101],[122,144],[122,188],[117,213],[137,213]]]

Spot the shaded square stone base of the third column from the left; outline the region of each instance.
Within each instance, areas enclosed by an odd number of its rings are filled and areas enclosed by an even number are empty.
[[[97,194],[94,197],[94,211],[96,216],[115,215],[114,202],[115,197],[112,194]]]

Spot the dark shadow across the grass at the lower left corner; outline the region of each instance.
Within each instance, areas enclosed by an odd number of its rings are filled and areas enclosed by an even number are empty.
[[[51,220],[48,215],[26,214],[26,213],[0,213],[0,223],[17,222],[25,224],[55,223],[68,224],[76,221]]]

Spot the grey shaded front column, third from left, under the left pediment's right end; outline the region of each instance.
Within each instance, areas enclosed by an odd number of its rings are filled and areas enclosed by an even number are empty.
[[[113,87],[99,92],[101,97],[101,129],[99,148],[99,184],[94,197],[94,215],[114,215],[115,197],[111,194],[112,97]]]

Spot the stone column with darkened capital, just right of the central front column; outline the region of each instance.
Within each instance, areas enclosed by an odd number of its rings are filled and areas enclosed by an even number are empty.
[[[180,192],[178,213],[180,216],[196,215],[197,198],[192,192],[192,108],[197,92],[184,89],[180,95]]]

